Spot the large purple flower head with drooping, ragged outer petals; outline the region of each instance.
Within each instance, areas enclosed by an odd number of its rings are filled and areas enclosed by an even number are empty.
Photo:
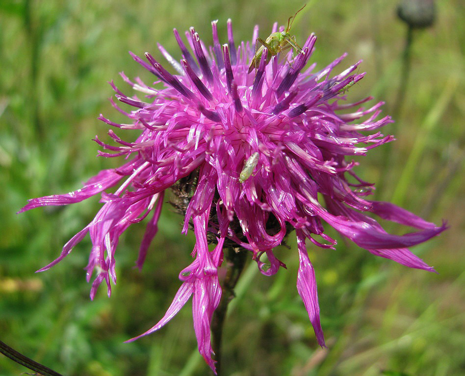
[[[114,145],[95,140],[107,150],[100,155],[124,156],[126,162],[99,172],[81,189],[29,200],[21,210],[67,205],[101,193],[103,207],[94,220],[63,247],[58,258],[40,269],[61,261],[89,233],[93,246],[86,270],[88,281],[96,273],[93,298],[103,280],[108,295],[110,280],[116,282],[114,255],[120,235],[150,215],[136,262],[142,267],[157,232],[165,190],[173,189],[173,204],[185,215],[182,233],[192,227],[196,236],[195,259],[181,271],[181,287],[165,316],[142,335],[164,326],[193,295],[199,351],[213,370],[210,321],[221,297],[218,267],[224,247],[249,251],[260,272],[273,275],[285,267],[273,248],[295,229],[300,261],[297,290],[318,343],[325,346],[315,273],[306,249],[307,240],[322,248],[335,247],[336,240],[325,234],[322,222],[374,255],[428,271],[433,268],[407,247],[445,229],[445,224],[437,227],[393,204],[366,198],[373,185],[353,172],[357,163],[350,158],[365,155],[393,137],[377,131],[391,122],[389,117],[379,118],[382,102],[368,109],[360,105],[371,97],[340,103],[345,90],[363,77],[354,72],[360,62],[336,75],[332,71],[345,54],[320,71],[314,71],[314,65],[306,68],[316,41],[312,34],[295,58],[292,52],[286,58],[278,54],[268,63],[265,48],[258,68],[248,73],[255,45],[242,42],[236,47],[231,21],[228,44],[221,45],[216,27],[213,22],[209,48],[194,28],[186,32],[192,52],[175,29],[180,62],[158,46],[176,75],[149,53],[145,60],[131,53],[156,82],[154,86],[139,79],[132,82],[122,73],[142,97],[126,96],[112,83],[117,99],[134,109],[126,113],[113,103],[129,118],[126,124],[100,119],[115,128],[134,129],[140,136],[126,142],[110,130]],[[277,29],[275,24],[273,32]],[[257,36],[258,27],[253,41]],[[105,192],[117,184],[115,193]],[[419,231],[390,235],[368,212]],[[212,242],[216,246],[209,251]],[[263,254],[266,265],[260,261]]]

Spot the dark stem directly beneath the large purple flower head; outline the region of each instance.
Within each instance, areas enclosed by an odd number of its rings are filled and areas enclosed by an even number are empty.
[[[245,251],[236,252],[228,249],[225,252],[227,272],[222,284],[222,294],[220,304],[213,313],[211,320],[211,332],[213,334],[213,349],[215,351],[216,374],[221,376],[221,339],[223,337],[223,326],[226,318],[228,304],[234,298],[234,287],[244,269],[247,253]]]

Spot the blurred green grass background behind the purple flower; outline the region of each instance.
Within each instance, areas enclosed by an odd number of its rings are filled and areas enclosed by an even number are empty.
[[[66,192],[118,161],[97,158],[96,134],[107,126],[100,113],[118,120],[107,98],[112,79],[125,92],[119,71],[148,73],[128,54],[156,42],[179,56],[173,27],[195,26],[211,43],[210,21],[219,20],[226,40],[232,19],[236,41],[250,40],[255,24],[265,35],[285,24],[299,1],[19,1],[0,2],[0,339],[66,376],[206,375],[196,353],[190,307],[149,337],[123,341],[150,328],[170,304],[178,273],[190,262],[193,236],[180,237],[182,218],[165,206],[142,273],[134,260],[144,226],[133,226],[117,252],[118,283],[110,299],[94,302],[82,268],[90,241],[60,264],[34,274],[99,208],[90,199],[67,208],[16,215],[28,198]],[[396,1],[309,1],[292,32],[303,40],[315,32],[312,57],[323,67],[348,52],[341,64],[363,59],[367,74],[348,93],[371,94],[392,110],[399,85],[405,25]],[[377,196],[396,202],[450,229],[413,250],[438,275],[374,258],[340,239],[336,251],[313,249],[322,325],[328,350],[316,345],[295,288],[297,257],[278,251],[288,270],[275,277],[251,267],[238,286],[226,324],[227,375],[406,375],[465,373],[464,323],[464,7],[438,1],[433,28],[415,32],[410,85],[395,125],[397,141],[387,160],[382,149],[361,160],[358,173],[378,182]],[[150,81],[149,81],[150,82]],[[129,136],[133,137],[133,136]],[[408,168],[407,168],[408,167]],[[396,231],[395,227],[388,228]],[[328,229],[331,233],[331,229]],[[337,236],[332,232],[334,236]],[[292,238],[292,235],[291,235]],[[245,276],[244,276],[245,277]],[[0,376],[25,369],[0,355]]]

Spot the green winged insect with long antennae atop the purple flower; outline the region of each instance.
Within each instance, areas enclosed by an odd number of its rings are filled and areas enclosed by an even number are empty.
[[[250,64],[248,73],[253,71],[255,68],[258,68],[258,66],[260,65],[261,55],[263,54],[265,48],[268,50],[268,54],[266,56],[266,64],[270,62],[272,56],[276,56],[278,52],[284,52],[286,49],[289,49],[290,47],[293,47],[295,51],[302,52],[302,48],[300,48],[295,41],[295,36],[291,36],[289,31],[292,27],[292,23],[294,22],[295,17],[297,16],[297,13],[304,9],[305,5],[302,8],[300,8],[297,12],[295,12],[293,17],[289,17],[289,19],[287,20],[287,27],[285,31],[277,31],[275,33],[272,33],[268,38],[266,38],[266,41],[264,41],[261,38],[257,38],[257,41],[260,42],[262,46],[260,46],[260,48],[258,48],[258,50],[256,51],[252,59],[252,63]],[[256,47],[258,46],[257,41],[255,42]]]

